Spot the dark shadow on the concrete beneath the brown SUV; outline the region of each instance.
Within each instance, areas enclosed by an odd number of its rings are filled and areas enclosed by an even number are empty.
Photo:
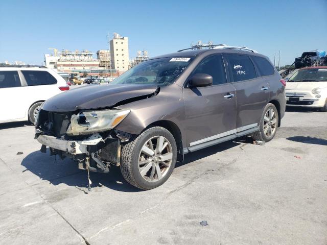
[[[214,155],[240,145],[241,142],[227,141],[218,145],[211,146],[193,153],[185,155],[183,162],[177,162],[175,167],[188,164],[201,158]],[[53,185],[66,184],[74,186],[87,194],[88,179],[87,171],[80,170],[77,164],[68,158],[61,160],[58,156],[50,156],[49,150],[46,154],[40,151],[32,152],[26,156],[21,165],[38,176],[41,180],[49,181]],[[106,186],[110,189],[122,192],[137,192],[142,191],[125,181],[121,174],[120,168],[111,166],[109,173],[90,172],[92,188]]]

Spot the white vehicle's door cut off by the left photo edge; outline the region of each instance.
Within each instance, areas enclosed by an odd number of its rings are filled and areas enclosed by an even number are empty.
[[[25,117],[24,96],[17,70],[0,70],[0,121]]]

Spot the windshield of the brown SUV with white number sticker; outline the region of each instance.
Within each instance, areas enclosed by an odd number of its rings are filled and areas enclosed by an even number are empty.
[[[192,58],[159,58],[143,61],[124,72],[110,84],[172,84],[191,63]]]

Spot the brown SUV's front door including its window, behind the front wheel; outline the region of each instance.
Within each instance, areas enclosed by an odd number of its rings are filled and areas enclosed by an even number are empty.
[[[213,85],[183,89],[188,147],[228,136],[236,128],[235,88],[227,83],[221,54],[204,58],[191,77],[195,74],[211,75]]]

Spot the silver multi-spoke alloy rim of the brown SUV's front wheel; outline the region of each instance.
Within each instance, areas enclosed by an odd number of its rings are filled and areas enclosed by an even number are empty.
[[[155,182],[164,177],[173,160],[170,142],[164,136],[154,136],[143,146],[138,157],[138,170],[142,178]]]

